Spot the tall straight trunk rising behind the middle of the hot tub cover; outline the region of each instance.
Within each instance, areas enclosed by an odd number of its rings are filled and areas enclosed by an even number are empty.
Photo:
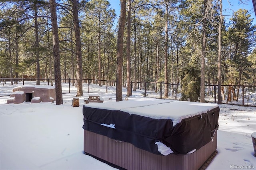
[[[164,49],[164,97],[168,98],[168,2],[165,9],[165,49]]]

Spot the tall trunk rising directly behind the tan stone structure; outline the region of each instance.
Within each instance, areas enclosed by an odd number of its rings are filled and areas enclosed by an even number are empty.
[[[35,34],[36,34],[36,85],[40,85],[40,56],[39,56],[39,38],[38,38],[38,21],[37,21],[37,6],[34,3],[35,13]]]

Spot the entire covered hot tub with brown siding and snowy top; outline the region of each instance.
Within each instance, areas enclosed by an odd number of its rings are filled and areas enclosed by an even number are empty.
[[[198,169],[217,148],[216,104],[169,100],[84,105],[84,152],[125,169]]]

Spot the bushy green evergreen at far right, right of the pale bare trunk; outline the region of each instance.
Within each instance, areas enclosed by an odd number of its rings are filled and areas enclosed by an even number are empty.
[[[247,10],[238,10],[231,18],[231,25],[228,28],[226,41],[228,42],[229,55],[225,64],[227,82],[230,85],[237,85],[237,93],[233,91],[233,100],[238,101],[239,88],[243,78],[247,77],[252,63],[247,59],[250,53],[250,46],[254,43],[254,32],[256,26],[252,26],[252,19]],[[231,97],[228,99],[231,101]],[[228,102],[227,101],[227,102]]]

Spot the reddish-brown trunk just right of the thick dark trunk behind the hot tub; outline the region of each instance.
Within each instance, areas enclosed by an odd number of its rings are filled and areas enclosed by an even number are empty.
[[[131,87],[131,0],[128,0],[128,12],[127,12],[127,48],[126,48],[126,78],[127,78],[127,94],[126,96],[132,96]]]

